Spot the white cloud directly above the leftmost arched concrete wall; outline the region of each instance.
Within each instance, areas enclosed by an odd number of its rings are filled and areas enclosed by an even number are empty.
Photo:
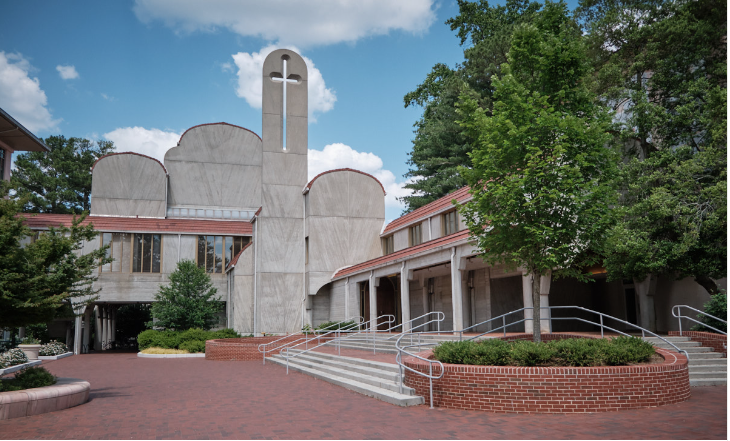
[[[121,127],[105,133],[104,138],[114,142],[117,152],[136,152],[162,162],[165,152],[177,145],[180,134],[144,127]]]

